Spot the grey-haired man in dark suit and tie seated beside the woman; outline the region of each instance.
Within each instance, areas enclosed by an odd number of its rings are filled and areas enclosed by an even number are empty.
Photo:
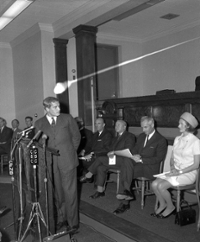
[[[148,116],[141,118],[141,133],[137,139],[137,143],[130,151],[133,160],[131,166],[133,178],[146,177],[153,179],[153,175],[159,173],[160,162],[164,160],[167,153],[167,141],[159,134],[154,127],[154,119]],[[115,214],[122,213],[130,208],[129,201],[126,199],[126,194],[119,194],[119,207],[114,211]]]

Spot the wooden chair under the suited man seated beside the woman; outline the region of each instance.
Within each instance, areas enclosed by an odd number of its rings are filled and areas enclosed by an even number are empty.
[[[169,170],[170,166],[170,158],[171,158],[171,153],[172,153],[172,146],[168,145],[167,148],[167,154],[165,157],[165,160],[160,163],[160,173],[164,172],[164,170]],[[151,189],[151,182],[153,180],[148,179],[146,177],[138,177],[135,179],[135,188],[133,190],[136,190],[138,193],[141,192],[141,209],[144,208],[144,203],[145,203],[145,196],[150,196],[154,195],[154,192]],[[138,185],[138,182],[140,182],[140,186]],[[157,207],[158,201],[156,200],[155,206]]]

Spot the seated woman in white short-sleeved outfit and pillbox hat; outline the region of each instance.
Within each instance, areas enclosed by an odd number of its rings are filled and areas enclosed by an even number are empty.
[[[195,182],[200,163],[200,140],[193,134],[197,126],[198,121],[191,113],[185,112],[181,115],[178,125],[181,135],[174,140],[170,173],[152,183],[159,207],[151,216],[166,218],[171,215],[175,211],[175,206],[168,189]]]

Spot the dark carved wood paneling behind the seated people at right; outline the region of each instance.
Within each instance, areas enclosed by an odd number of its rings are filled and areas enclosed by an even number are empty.
[[[98,104],[97,104],[98,106]],[[177,127],[183,112],[191,112],[200,120],[200,91],[130,97],[105,100],[99,112],[107,122],[114,125],[124,119],[129,126],[140,126],[142,116],[152,116],[158,127]]]

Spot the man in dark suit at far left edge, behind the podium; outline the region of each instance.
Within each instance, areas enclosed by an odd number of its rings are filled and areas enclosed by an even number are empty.
[[[6,120],[0,118],[0,155],[10,154],[13,131],[6,126]]]

